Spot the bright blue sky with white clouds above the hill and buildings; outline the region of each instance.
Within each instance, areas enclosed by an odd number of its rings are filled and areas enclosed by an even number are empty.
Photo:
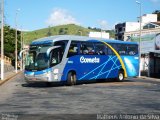
[[[160,0],[138,0],[142,15],[160,10]],[[49,26],[77,24],[114,29],[114,25],[138,20],[136,0],[4,0],[5,23],[33,31]]]

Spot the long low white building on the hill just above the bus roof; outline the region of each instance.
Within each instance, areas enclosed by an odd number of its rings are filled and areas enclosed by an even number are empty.
[[[106,32],[90,32],[89,37],[109,39],[109,33],[106,33]]]

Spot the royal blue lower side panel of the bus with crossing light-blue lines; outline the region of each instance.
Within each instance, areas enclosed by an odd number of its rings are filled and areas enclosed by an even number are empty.
[[[81,57],[84,58],[98,58],[98,63],[81,63]],[[73,62],[71,62],[73,61]],[[117,56],[106,55],[76,55],[70,57],[63,71],[62,81],[65,81],[67,74],[71,70],[76,71],[77,80],[92,80],[92,79],[105,79],[115,78],[118,74],[118,70],[121,68],[121,64]],[[84,69],[85,68],[85,69]],[[77,72],[78,71],[78,72]]]

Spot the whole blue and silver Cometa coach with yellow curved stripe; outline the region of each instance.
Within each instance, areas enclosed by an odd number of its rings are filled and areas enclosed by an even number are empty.
[[[59,35],[30,44],[25,62],[27,82],[66,82],[115,78],[139,71],[138,44],[84,36]]]

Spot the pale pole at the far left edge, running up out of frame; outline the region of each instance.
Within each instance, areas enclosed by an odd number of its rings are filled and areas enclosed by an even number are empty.
[[[1,80],[4,79],[4,0],[1,1]]]

